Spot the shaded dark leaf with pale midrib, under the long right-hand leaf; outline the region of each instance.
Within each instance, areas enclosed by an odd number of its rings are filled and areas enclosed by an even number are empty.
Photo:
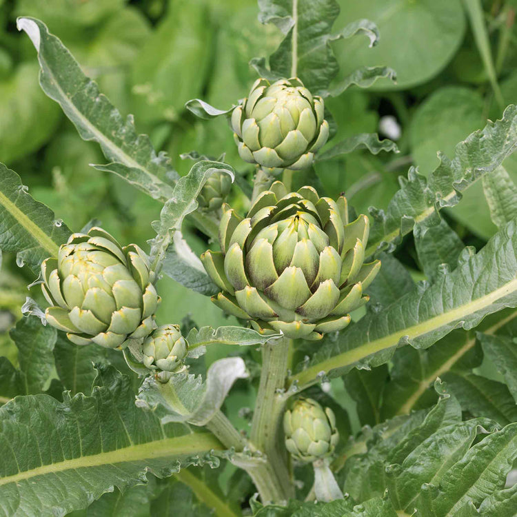
[[[514,309],[502,310],[487,316],[478,328],[486,333],[483,336],[488,337],[503,332],[505,326],[511,325],[516,318],[517,312]],[[431,405],[436,396],[429,387],[437,377],[451,370],[465,371],[478,367],[481,361],[474,332],[462,330],[453,330],[425,350],[407,347],[397,350],[393,357],[390,381],[384,390],[383,418],[409,414],[416,408]]]

